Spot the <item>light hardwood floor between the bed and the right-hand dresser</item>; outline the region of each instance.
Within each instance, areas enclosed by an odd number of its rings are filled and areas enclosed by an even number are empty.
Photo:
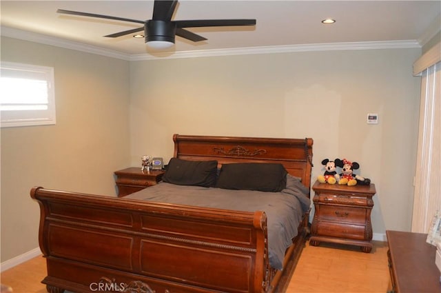
[[[369,254],[359,247],[307,243],[287,293],[386,293],[390,287],[387,242],[372,243]]]

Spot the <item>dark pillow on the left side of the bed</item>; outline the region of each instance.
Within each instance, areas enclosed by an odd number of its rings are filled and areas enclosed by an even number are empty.
[[[170,159],[163,181],[176,185],[214,187],[218,161],[187,161]]]

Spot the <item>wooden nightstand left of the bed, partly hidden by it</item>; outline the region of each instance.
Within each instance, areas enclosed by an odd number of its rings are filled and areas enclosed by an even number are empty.
[[[141,171],[140,168],[131,167],[115,172],[116,186],[118,186],[118,196],[126,196],[133,192],[143,190],[155,185],[165,172],[162,170]]]

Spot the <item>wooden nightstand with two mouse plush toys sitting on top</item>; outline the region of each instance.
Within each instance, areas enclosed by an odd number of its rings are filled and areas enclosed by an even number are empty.
[[[311,245],[333,242],[372,250],[371,210],[375,185],[338,185],[319,183],[314,190],[316,212],[311,226]]]

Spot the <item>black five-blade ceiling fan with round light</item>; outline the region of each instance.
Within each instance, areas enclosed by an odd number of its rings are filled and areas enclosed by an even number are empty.
[[[108,34],[104,37],[116,38],[126,34],[133,34],[144,30],[145,43],[147,46],[155,49],[165,49],[174,45],[176,35],[189,39],[190,41],[205,41],[206,38],[185,30],[184,28],[197,28],[209,26],[254,26],[256,19],[195,19],[195,20],[178,20],[172,21],[172,16],[176,8],[177,0],[164,1],[155,0],[153,6],[153,17],[147,21],[139,21],[136,19],[125,19],[123,17],[112,17],[108,15],[94,14],[88,12],[77,12],[71,10],[57,10],[61,14],[73,14],[83,17],[97,17],[101,19],[114,19],[118,21],[128,21],[133,23],[142,23],[143,27]]]

